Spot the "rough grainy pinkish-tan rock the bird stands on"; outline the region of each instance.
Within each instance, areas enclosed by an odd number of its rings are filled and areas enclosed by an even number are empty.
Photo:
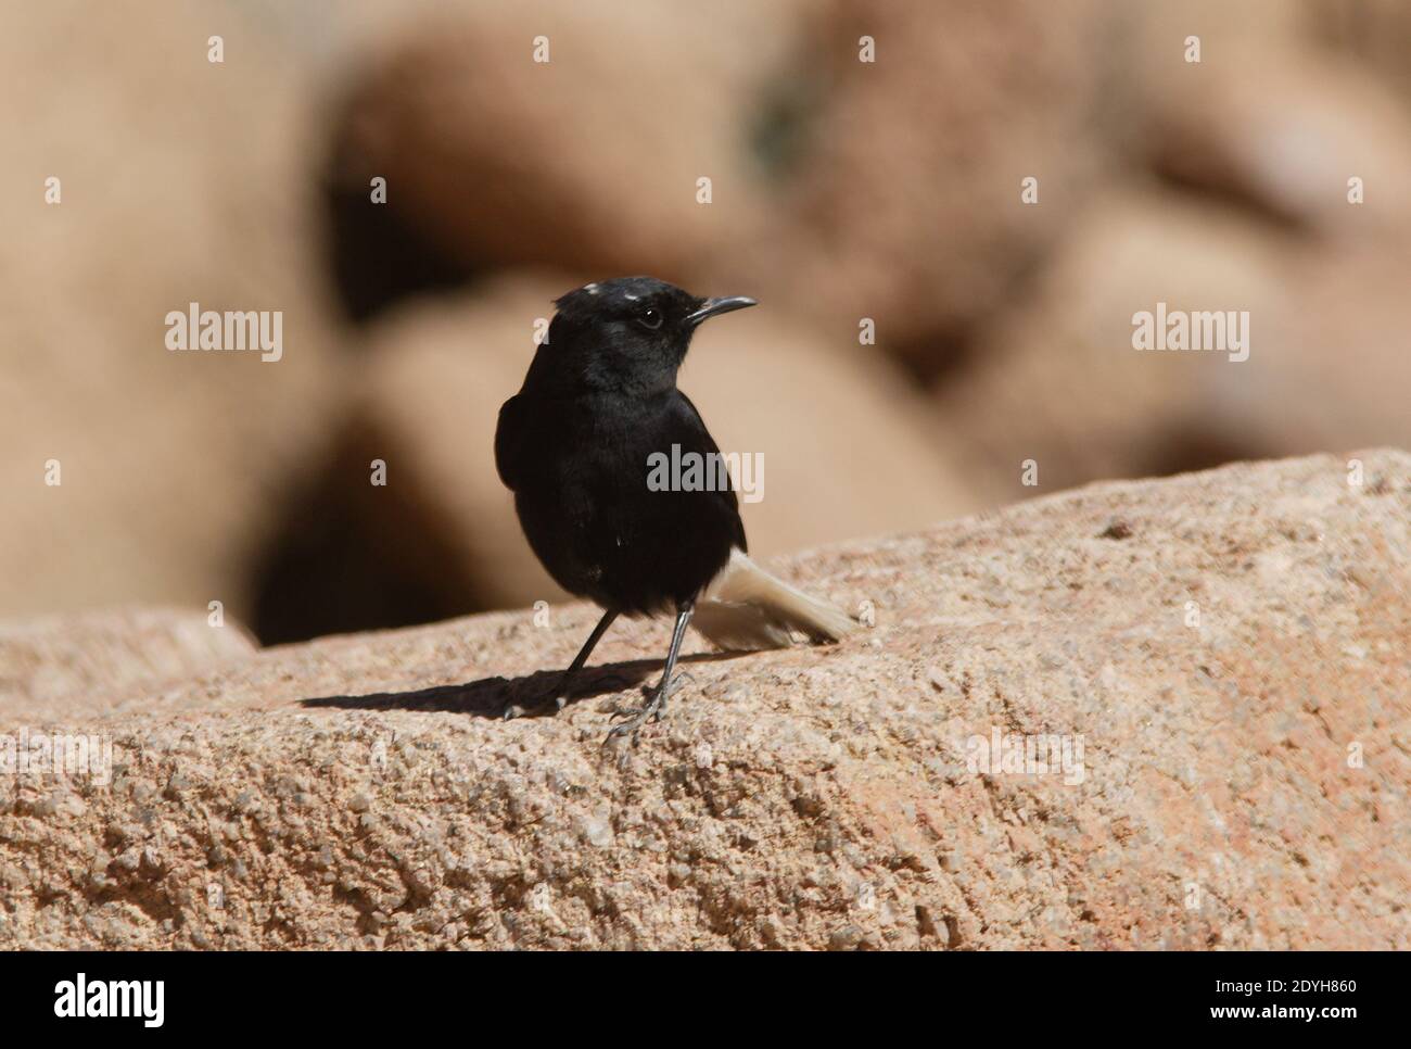
[[[875,627],[691,659],[602,748],[594,617],[260,652],[0,778],[0,946],[1411,946],[1411,455],[1109,483],[783,566]],[[1362,483],[1353,483],[1360,480]],[[646,679],[665,624],[598,651]],[[116,688],[114,705],[131,699]],[[967,767],[993,730],[1082,775]],[[1072,753],[1077,755],[1075,751]]]

